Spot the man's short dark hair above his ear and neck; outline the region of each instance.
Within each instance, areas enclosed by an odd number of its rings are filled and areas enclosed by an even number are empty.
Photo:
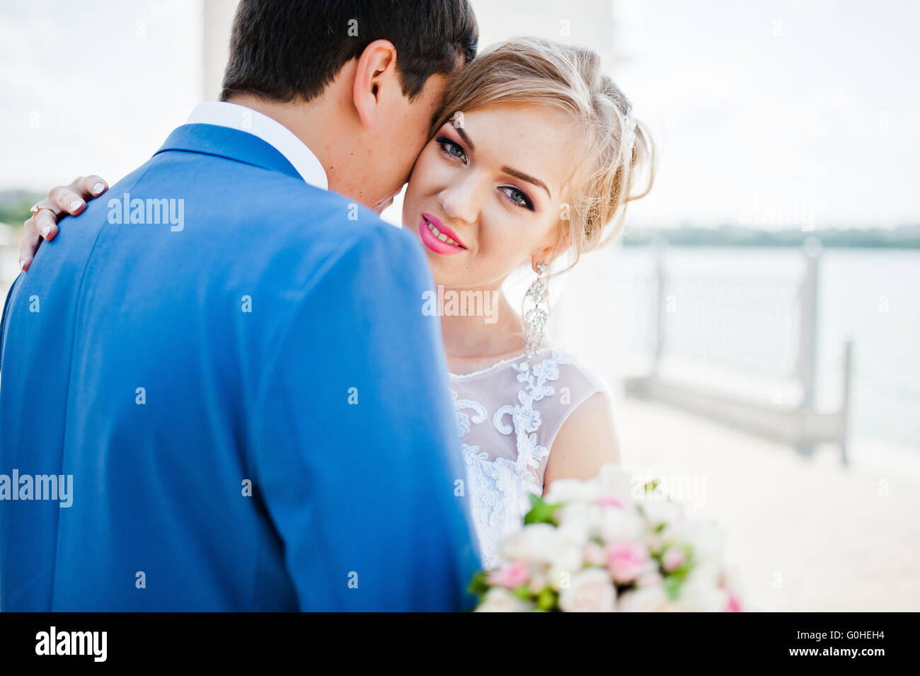
[[[412,99],[431,75],[476,56],[478,28],[467,0],[241,0],[221,100],[317,97],[374,40],[396,47]]]

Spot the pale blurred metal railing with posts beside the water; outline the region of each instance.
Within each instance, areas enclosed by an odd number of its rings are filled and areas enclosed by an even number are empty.
[[[650,368],[627,378],[627,393],[791,444],[806,455],[819,443],[833,442],[846,464],[851,341],[843,346],[838,406],[832,411],[815,406],[820,246],[805,247],[803,269],[794,280],[674,272],[665,264],[663,246],[653,246],[651,255],[650,277],[629,281],[632,292],[650,301],[650,312],[634,317],[633,325],[633,345],[648,351]],[[740,376],[736,383],[772,381],[779,394],[757,398],[705,379],[675,379],[667,368],[674,361],[734,373]]]

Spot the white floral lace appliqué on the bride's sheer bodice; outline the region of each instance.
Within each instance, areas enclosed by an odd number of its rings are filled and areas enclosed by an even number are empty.
[[[522,384],[518,403],[506,405],[495,411],[492,425],[501,434],[514,435],[517,448],[515,460],[495,458],[478,446],[463,444],[469,484],[473,521],[476,525],[483,565],[487,568],[501,563],[499,548],[504,538],[521,527],[523,516],[530,510],[531,493],[543,493],[542,477],[537,475],[540,464],[549,449],[537,442],[536,432],[541,425],[540,412],[534,403],[556,394],[551,384],[558,380],[559,364],[569,363],[566,356],[553,350],[552,358],[533,366],[526,361],[513,362],[517,380]],[[469,433],[470,423],[478,424],[488,414],[482,405],[471,399],[457,399],[453,390],[457,433],[463,439]],[[474,412],[472,418],[462,409]],[[511,417],[511,424],[506,421]]]

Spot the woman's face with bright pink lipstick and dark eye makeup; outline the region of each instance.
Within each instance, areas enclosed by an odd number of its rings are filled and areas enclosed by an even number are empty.
[[[435,132],[409,178],[403,223],[436,283],[498,288],[523,263],[548,262],[572,134],[558,111],[518,104],[471,110]]]

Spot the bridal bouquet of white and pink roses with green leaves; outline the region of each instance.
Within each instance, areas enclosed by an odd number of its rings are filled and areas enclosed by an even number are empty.
[[[742,610],[724,534],[685,519],[654,483],[611,464],[590,481],[558,480],[531,503],[502,544],[504,564],[470,585],[477,612]]]

